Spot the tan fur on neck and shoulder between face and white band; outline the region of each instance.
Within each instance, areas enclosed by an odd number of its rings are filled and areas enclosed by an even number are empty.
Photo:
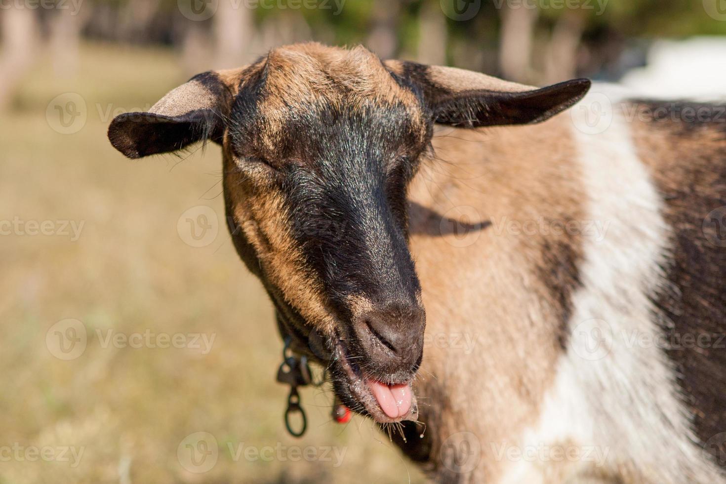
[[[584,194],[576,181],[572,140],[566,135],[552,140],[552,131],[567,133],[566,120],[555,118],[517,130],[439,128],[433,145],[441,160],[423,169],[411,198],[436,213],[469,206],[483,220],[582,220]],[[557,157],[543,155],[545,145]],[[417,223],[440,222],[419,215],[411,215],[414,233],[431,231]],[[417,386],[421,419],[436,429],[433,459],[448,435],[476,434],[482,446],[481,468],[468,477],[483,482],[486,476],[494,482],[505,463],[493,458],[489,443],[514,442],[534,423],[555,374],[562,352],[561,324],[568,313],[568,302],[558,294],[568,294],[575,284],[563,280],[566,276],[558,266],[579,258],[581,247],[576,234],[497,235],[494,226],[481,229],[468,247],[456,247],[456,237],[413,234],[411,240],[427,334],[480,336],[470,356],[436,345],[425,348]],[[553,252],[541,249],[547,246],[554,247]],[[513,300],[513,295],[518,297]],[[448,471],[439,467],[439,472]]]

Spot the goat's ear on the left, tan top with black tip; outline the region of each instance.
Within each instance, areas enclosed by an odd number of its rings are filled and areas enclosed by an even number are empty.
[[[108,127],[108,139],[129,158],[176,151],[195,141],[219,142],[239,76],[231,71],[195,75],[148,112],[125,112]]]

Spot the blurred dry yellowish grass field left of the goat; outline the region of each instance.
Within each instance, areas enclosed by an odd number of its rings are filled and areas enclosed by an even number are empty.
[[[219,148],[131,161],[108,143],[115,110],[146,109],[187,77],[171,51],[84,45],[77,75],[57,78],[46,58],[0,113],[0,221],[15,221],[0,235],[0,483],[423,482],[370,421],[330,422],[327,390],[302,390],[309,430],[287,435],[287,390],[274,382],[282,343],[223,223]],[[58,132],[49,109],[64,93],[86,104],[72,134]],[[198,205],[219,223],[205,247],[177,231]],[[33,221],[52,221],[55,233],[30,234]],[[77,240],[58,233],[63,221],[81,227]],[[65,319],[81,321],[87,335],[69,360],[46,341]],[[117,348],[104,344],[109,331],[215,339],[206,354]],[[206,472],[189,470],[177,452],[194,432],[216,439]],[[282,458],[235,456],[228,444],[242,443],[283,448]],[[336,467],[335,458],[300,458],[293,446],[345,454]],[[76,466],[59,455],[67,447],[83,449]],[[54,457],[33,459],[34,448]]]

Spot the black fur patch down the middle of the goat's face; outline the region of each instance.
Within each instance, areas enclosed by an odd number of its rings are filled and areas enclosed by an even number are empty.
[[[234,103],[238,152],[256,153],[264,70]],[[406,237],[407,184],[423,150],[402,106],[290,105],[275,140],[293,237],[341,316],[351,295],[409,302],[420,290]]]

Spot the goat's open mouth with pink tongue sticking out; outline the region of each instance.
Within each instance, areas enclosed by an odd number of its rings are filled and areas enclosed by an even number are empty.
[[[385,383],[376,380],[348,356],[340,339],[333,348],[333,358],[343,374],[343,379],[338,379],[336,385],[338,393],[343,393],[341,400],[351,410],[369,415],[378,423],[418,419],[418,405],[410,381]]]

